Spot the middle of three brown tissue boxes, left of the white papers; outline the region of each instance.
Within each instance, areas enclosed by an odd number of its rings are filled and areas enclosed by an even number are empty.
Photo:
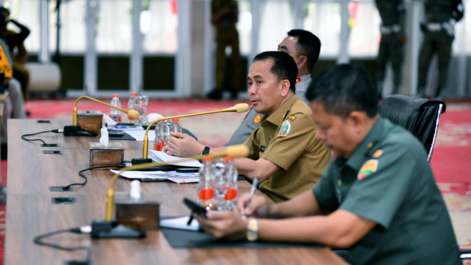
[[[120,142],[110,142],[109,146],[101,145],[100,142],[89,142],[89,150],[90,167],[123,163],[125,148]]]

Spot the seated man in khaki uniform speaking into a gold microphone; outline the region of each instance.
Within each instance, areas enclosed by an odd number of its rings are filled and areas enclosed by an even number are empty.
[[[244,143],[249,146],[249,157],[236,159],[235,165],[246,179],[259,177],[260,191],[276,202],[310,190],[331,158],[327,146],[315,137],[310,108],[295,96],[296,77],[297,65],[286,52],[257,55],[247,77],[252,106],[265,116]],[[185,150],[184,144],[178,149],[169,147],[164,148],[169,154]]]

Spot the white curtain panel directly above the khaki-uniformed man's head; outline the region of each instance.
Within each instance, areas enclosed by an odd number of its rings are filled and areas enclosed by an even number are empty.
[[[258,52],[277,50],[286,33],[293,29],[293,23],[289,1],[267,1],[263,4]]]

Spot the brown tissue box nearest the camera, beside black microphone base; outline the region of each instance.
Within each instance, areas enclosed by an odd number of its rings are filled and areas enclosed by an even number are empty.
[[[152,193],[141,192],[140,199],[129,193],[115,193],[115,218],[120,224],[140,230],[159,230],[160,203]]]

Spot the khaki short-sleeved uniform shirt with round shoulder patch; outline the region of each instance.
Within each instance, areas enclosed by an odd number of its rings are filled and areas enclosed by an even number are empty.
[[[291,96],[271,115],[264,116],[261,127],[244,143],[250,159],[263,158],[281,168],[259,186],[271,200],[288,201],[319,181],[331,152],[315,137],[316,128],[310,107]]]

